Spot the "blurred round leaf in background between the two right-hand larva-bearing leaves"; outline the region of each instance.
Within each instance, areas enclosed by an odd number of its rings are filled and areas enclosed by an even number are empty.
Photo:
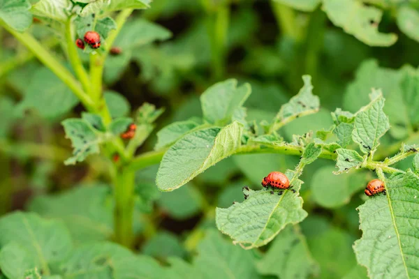
[[[348,204],[354,193],[365,188],[366,182],[363,173],[352,172],[338,176],[333,174],[334,170],[333,166],[321,167],[314,173],[311,180],[314,202],[328,209]]]

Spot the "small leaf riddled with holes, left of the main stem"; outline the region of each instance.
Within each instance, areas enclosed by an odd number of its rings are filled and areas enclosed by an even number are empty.
[[[103,137],[99,136],[93,128],[82,119],[66,119],[62,122],[66,137],[71,140],[73,157],[68,158],[64,164],[75,165],[82,162],[87,156],[99,153],[99,144]]]

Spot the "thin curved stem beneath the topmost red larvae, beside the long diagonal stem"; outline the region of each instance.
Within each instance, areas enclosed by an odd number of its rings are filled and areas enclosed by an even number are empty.
[[[82,83],[84,91],[89,92],[91,89],[89,76],[87,75],[86,69],[84,69],[82,61],[80,60],[80,56],[78,55],[77,47],[75,46],[74,35],[75,31],[73,25],[73,17],[70,17],[66,22],[66,41],[68,59],[71,62],[71,66],[73,66],[75,75],[77,75],[78,79]]]

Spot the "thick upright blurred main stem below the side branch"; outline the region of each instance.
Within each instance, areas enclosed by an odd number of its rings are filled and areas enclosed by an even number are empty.
[[[131,248],[133,243],[133,211],[135,172],[117,169],[115,179],[115,239],[118,243]]]

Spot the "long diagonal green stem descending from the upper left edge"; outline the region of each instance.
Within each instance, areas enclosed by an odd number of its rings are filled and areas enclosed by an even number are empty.
[[[41,43],[38,42],[33,36],[29,33],[19,33],[6,24],[1,24],[9,33],[11,33],[17,40],[25,45],[34,55],[38,58],[47,68],[52,70],[52,73],[57,75],[59,79],[64,82],[68,88],[73,91],[75,96],[82,102],[84,107],[87,107],[88,110],[95,110],[95,105],[91,98],[85,93],[80,86],[78,80],[76,80],[73,75],[63,66],[57,59],[55,59],[52,54],[46,50]]]

